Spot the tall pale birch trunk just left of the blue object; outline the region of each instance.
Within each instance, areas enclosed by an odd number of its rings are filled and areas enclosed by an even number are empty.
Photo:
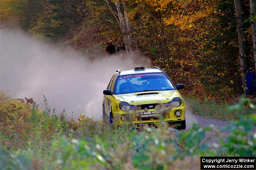
[[[242,87],[243,89],[245,89],[247,65],[246,65],[246,58],[245,58],[246,37],[245,37],[245,30],[244,30],[243,17],[242,17],[242,0],[234,0],[234,3],[235,3],[236,23],[237,23],[237,29],[238,29],[239,58],[240,58],[240,68],[241,68],[241,76],[242,76],[242,84],[243,84]]]

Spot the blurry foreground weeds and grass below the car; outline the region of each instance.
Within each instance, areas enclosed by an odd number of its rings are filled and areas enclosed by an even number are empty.
[[[56,115],[44,101],[40,110],[31,100],[1,100],[1,169],[199,169],[200,156],[256,155],[255,114],[222,130],[194,124],[179,131],[160,122],[139,132],[83,115],[67,119],[65,111]],[[230,109],[239,112],[246,102]],[[230,133],[222,139],[225,130]],[[207,131],[219,136],[218,144],[202,142]]]

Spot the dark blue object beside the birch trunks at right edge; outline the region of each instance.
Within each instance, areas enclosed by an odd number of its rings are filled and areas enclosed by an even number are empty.
[[[246,74],[246,87],[245,94],[256,94],[256,76],[251,69]]]

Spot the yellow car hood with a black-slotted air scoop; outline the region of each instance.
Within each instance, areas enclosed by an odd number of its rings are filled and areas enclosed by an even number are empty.
[[[128,94],[116,94],[121,102],[127,102],[130,105],[150,104],[150,103],[167,103],[175,97],[179,97],[177,90],[168,91],[143,91]]]

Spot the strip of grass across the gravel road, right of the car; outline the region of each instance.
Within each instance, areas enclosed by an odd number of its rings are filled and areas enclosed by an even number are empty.
[[[193,97],[185,98],[186,104],[188,108],[192,110],[193,114],[223,120],[237,120],[239,119],[240,115],[250,115],[256,113],[256,111],[250,107],[250,104],[252,104],[252,102],[241,103],[242,100],[246,100],[246,98],[240,99],[239,109],[230,110],[230,106],[233,105],[229,103],[217,103],[214,100],[200,101]]]

